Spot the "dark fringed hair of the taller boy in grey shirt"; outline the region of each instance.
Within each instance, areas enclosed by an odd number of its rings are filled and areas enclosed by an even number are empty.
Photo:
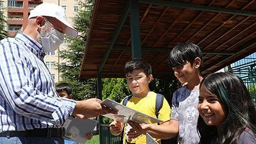
[[[201,59],[202,67],[202,52],[200,47],[193,43],[181,43],[176,45],[170,52],[168,64],[171,67],[180,66],[184,62],[188,61],[191,65],[195,61],[195,58],[199,57]]]

